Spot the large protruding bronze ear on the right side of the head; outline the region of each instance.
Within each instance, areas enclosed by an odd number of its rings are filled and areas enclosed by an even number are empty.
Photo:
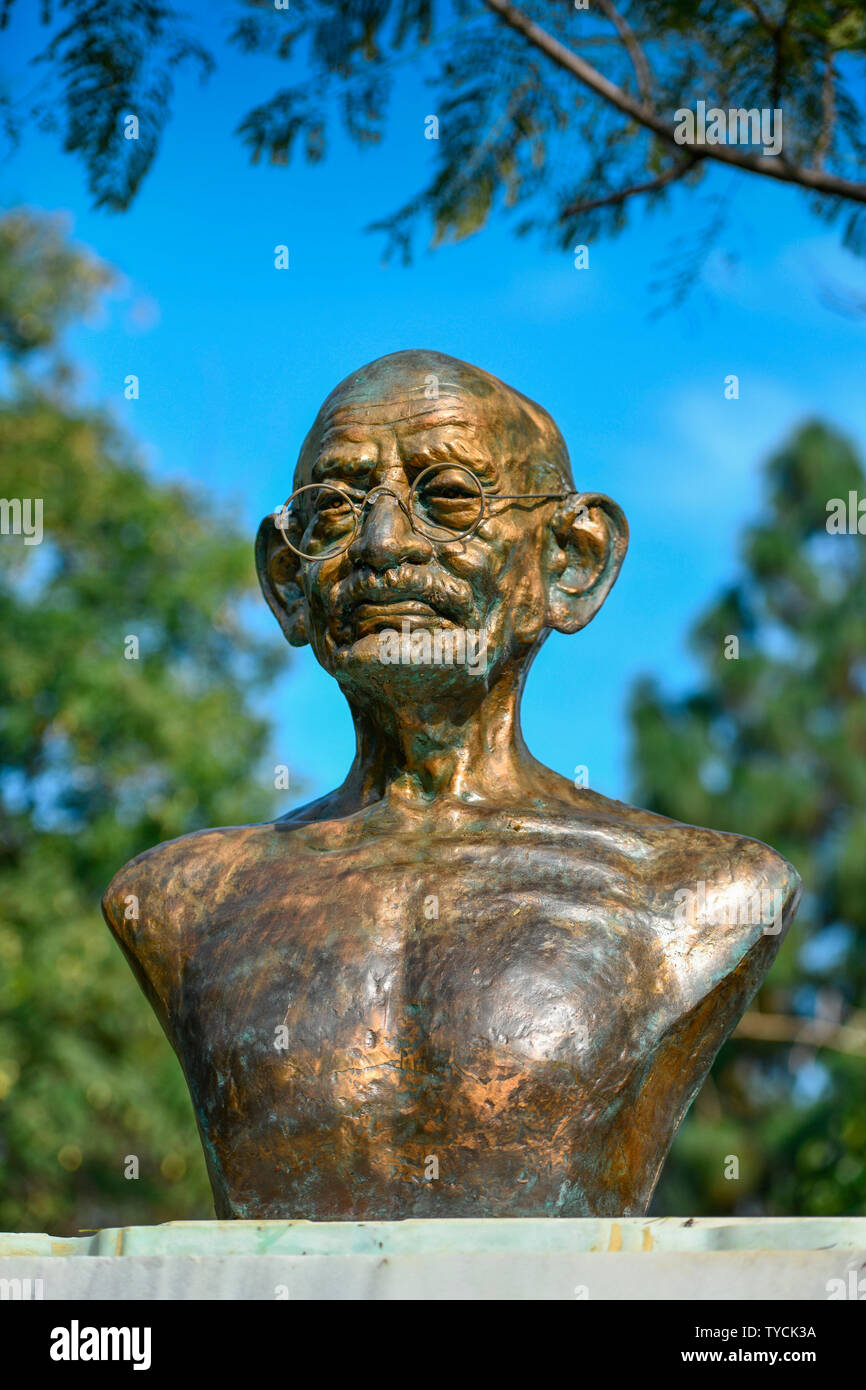
[[[556,509],[549,538],[548,626],[580,632],[607,598],[628,549],[623,509],[602,492],[578,492]]]

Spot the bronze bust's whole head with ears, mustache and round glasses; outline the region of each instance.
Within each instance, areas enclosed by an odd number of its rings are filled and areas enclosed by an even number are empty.
[[[377,708],[382,626],[480,634],[495,682],[548,631],[587,626],[628,543],[610,498],[574,491],[548,411],[439,352],[391,353],[341,381],[303,442],[295,489],[288,523],[281,509],[259,530],[265,598],[291,642],[310,641],[352,698]],[[402,666],[389,681],[395,699],[418,682],[445,699],[464,674],[413,664],[405,691]],[[478,681],[466,678],[474,699]]]

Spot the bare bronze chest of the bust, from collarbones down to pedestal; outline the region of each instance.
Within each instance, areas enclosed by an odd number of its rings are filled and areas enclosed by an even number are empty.
[[[527,1182],[555,1201],[575,1148],[605,1161],[676,1008],[610,865],[363,847],[254,866],[207,906],[177,1036],[228,1212],[257,1213],[264,1162],[284,1215],[395,1215],[395,1191],[470,1213]]]

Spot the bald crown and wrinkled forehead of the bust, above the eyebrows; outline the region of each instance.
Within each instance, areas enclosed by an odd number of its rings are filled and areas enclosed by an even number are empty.
[[[363,442],[370,427],[424,431],[460,425],[491,450],[527,489],[574,486],[566,442],[548,411],[489,371],[423,348],[377,357],[346,377],[321,406],[300,450],[296,485],[311,475],[329,443]],[[478,457],[471,460],[481,463]]]

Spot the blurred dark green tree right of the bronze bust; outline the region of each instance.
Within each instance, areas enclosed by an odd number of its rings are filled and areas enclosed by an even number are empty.
[[[805,883],[674,1143],[659,1213],[866,1204],[866,477],[852,446],[812,423],[770,460],[767,484],[742,575],[692,635],[699,689],[669,699],[642,681],[631,708],[635,799],[763,840]]]

